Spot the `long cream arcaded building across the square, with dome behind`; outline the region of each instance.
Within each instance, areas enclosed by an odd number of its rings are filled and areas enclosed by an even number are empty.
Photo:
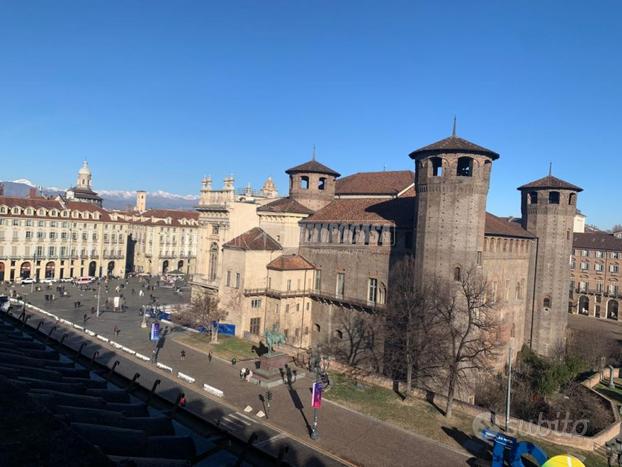
[[[106,210],[91,181],[85,162],[64,196],[32,189],[15,198],[0,190],[0,281],[194,272],[196,212],[146,210],[144,192],[137,198],[142,211]]]

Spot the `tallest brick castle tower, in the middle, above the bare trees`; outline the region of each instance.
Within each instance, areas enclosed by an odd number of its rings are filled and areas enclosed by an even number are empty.
[[[423,278],[481,266],[486,197],[499,154],[454,134],[410,154],[416,161],[415,264]]]

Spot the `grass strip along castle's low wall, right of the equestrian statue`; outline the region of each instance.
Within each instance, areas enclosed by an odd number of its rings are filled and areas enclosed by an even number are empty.
[[[474,437],[473,416],[462,412],[459,408],[454,408],[453,416],[447,419],[435,406],[425,400],[410,397],[402,401],[389,389],[370,384],[357,385],[354,379],[340,373],[331,373],[331,382],[331,388],[326,392],[326,399],[453,448],[465,448],[467,445],[467,448],[475,447],[475,452],[481,452],[478,449],[483,448],[483,443]],[[586,465],[607,466],[604,458],[593,453],[536,439],[524,437],[520,439],[541,446],[550,457],[570,453],[584,459]],[[533,464],[525,463],[525,465]]]

